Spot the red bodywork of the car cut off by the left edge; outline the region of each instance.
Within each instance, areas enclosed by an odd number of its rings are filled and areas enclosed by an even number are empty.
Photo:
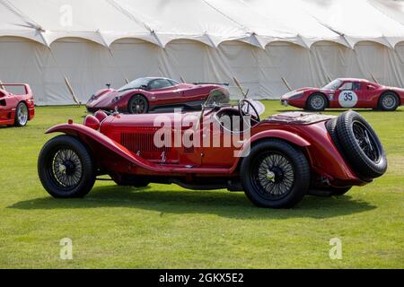
[[[21,87],[24,92],[13,94],[6,91],[13,87]],[[28,120],[31,120],[35,115],[35,107],[30,86],[26,83],[0,83],[0,125],[14,125],[15,111],[20,102],[27,105]]]

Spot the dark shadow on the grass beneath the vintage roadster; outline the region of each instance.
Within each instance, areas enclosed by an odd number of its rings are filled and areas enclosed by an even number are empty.
[[[171,186],[167,186],[171,188]],[[289,210],[258,208],[243,193],[229,191],[156,190],[153,187],[94,187],[85,198],[55,199],[50,196],[21,201],[8,206],[23,210],[127,207],[163,213],[207,213],[236,219],[293,217],[328,218],[363,213],[375,206],[350,196],[305,196]]]

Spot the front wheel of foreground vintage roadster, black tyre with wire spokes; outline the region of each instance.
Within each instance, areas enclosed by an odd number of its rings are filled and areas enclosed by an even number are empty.
[[[91,153],[70,135],[58,135],[45,143],[38,159],[38,174],[48,194],[58,198],[87,195],[96,177]]]

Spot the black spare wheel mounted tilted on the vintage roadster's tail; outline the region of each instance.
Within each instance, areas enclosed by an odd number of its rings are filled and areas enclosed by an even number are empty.
[[[387,170],[386,154],[373,127],[358,113],[347,110],[335,127],[340,152],[356,174],[364,179],[381,177]]]

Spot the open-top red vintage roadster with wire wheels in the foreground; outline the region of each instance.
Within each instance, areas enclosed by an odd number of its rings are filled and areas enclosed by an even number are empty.
[[[199,112],[107,115],[64,133],[40,151],[40,181],[51,196],[81,197],[97,176],[118,185],[177,184],[190,189],[244,191],[253,204],[291,207],[307,194],[342,195],[382,176],[382,143],[364,117],[287,112],[261,120],[254,101],[235,106],[211,91]]]

